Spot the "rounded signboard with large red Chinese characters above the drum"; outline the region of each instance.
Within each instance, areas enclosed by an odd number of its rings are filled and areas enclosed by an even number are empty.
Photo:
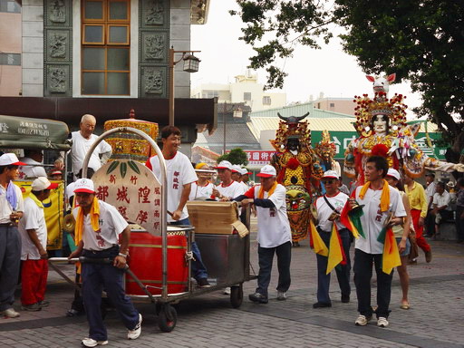
[[[92,177],[97,198],[150,234],[161,235],[161,185],[153,172],[133,160],[106,163]]]

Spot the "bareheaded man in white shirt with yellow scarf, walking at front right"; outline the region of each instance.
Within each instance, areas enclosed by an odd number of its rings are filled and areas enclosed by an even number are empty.
[[[371,306],[371,279],[372,263],[377,274],[377,326],[388,326],[388,315],[391,297],[390,275],[382,271],[383,244],[377,240],[382,232],[382,227],[387,220],[390,226],[401,225],[402,217],[406,211],[402,204],[400,191],[390,187],[384,179],[388,172],[388,162],[381,156],[372,156],[366,161],[366,184],[355,190],[355,200],[362,206],[361,217],[364,237],[359,237],[354,243],[354,285],[358,297],[358,312],[360,315],[355,321],[356,325],[366,325],[372,319]],[[352,208],[355,206],[353,199],[349,200]],[[388,220],[387,220],[388,221]]]

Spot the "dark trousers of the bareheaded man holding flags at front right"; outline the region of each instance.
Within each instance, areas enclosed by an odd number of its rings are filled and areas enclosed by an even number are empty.
[[[390,275],[382,272],[382,254],[367,254],[360,249],[354,249],[354,285],[356,285],[356,295],[358,297],[358,312],[365,316],[372,316],[371,306],[371,279],[372,264],[377,273],[377,318],[388,318],[391,298],[391,279]]]

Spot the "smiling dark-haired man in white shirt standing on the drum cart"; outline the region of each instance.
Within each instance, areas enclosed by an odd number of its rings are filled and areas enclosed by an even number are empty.
[[[189,158],[179,151],[181,133],[179,128],[166,126],[161,130],[163,142],[162,153],[166,161],[168,180],[168,222],[171,225],[190,225],[187,201],[192,182],[198,180]],[[145,163],[155,176],[161,179],[161,167],[158,156],[150,157]],[[196,242],[192,242],[192,252],[195,260],[192,261],[192,275],[199,287],[208,287],[208,272],[203,264],[201,254]]]

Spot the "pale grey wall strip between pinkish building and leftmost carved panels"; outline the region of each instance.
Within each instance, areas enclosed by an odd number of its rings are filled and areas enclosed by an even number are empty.
[[[23,95],[43,97],[43,0],[23,0]]]

